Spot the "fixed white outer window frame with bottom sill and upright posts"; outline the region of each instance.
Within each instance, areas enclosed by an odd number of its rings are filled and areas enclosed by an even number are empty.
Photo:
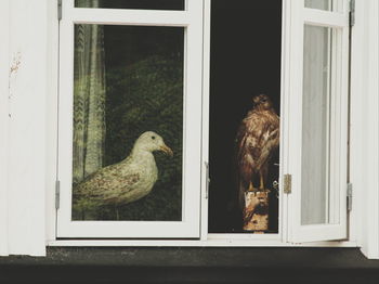
[[[66,0],[63,0],[66,1]],[[296,0],[297,1],[297,0]],[[282,93],[288,92],[289,85],[288,85],[288,73],[289,73],[289,65],[288,62],[290,60],[290,40],[289,35],[291,30],[291,21],[289,18],[290,15],[290,3],[289,0],[284,0],[283,4],[283,44],[282,44]],[[51,11],[54,11],[54,4],[51,7]],[[56,10],[55,10],[56,11]],[[204,23],[204,78],[209,78],[209,27],[210,27],[210,0],[205,0],[204,5],[204,13],[205,13],[205,23]],[[55,14],[55,13],[54,13]],[[147,21],[147,20],[146,20]],[[148,21],[147,21],[148,22]],[[53,22],[54,25],[51,27],[52,34],[56,35],[57,30],[57,23]],[[149,22],[151,23],[151,22]],[[52,66],[56,66],[54,63],[54,54],[56,55],[56,47],[57,47],[57,38],[55,36],[51,36],[51,40],[55,43],[52,44],[52,48],[54,49],[54,52],[52,52],[51,57],[53,57]],[[52,77],[54,75],[54,68],[52,67]],[[302,75],[301,75],[302,76]],[[56,85],[56,83],[55,83]],[[52,86],[52,90],[54,90],[54,86]],[[56,87],[56,86],[55,86]],[[209,98],[208,98],[208,90],[209,90],[209,81],[205,79],[202,81],[202,89],[204,89],[204,100],[202,100],[202,152],[201,152],[201,234],[200,240],[174,240],[174,241],[167,241],[167,240],[152,240],[152,241],[143,241],[143,240],[57,240],[55,230],[56,230],[56,212],[54,207],[54,192],[52,189],[47,193],[48,194],[48,207],[47,207],[47,216],[48,216],[48,245],[50,246],[172,246],[172,245],[180,245],[180,246],[348,246],[348,247],[355,247],[357,246],[357,240],[355,232],[355,227],[351,227],[349,229],[349,241],[341,241],[341,242],[313,242],[313,243],[301,243],[301,244],[293,244],[288,243],[288,216],[289,211],[288,208],[288,198],[285,197],[283,194],[283,186],[280,186],[280,196],[279,199],[279,233],[277,235],[237,235],[237,234],[208,234],[208,201],[207,201],[207,167],[205,162],[208,160],[208,106],[209,106]],[[282,95],[283,98],[283,95]],[[53,100],[52,100],[53,101]],[[286,109],[288,107],[288,101],[282,102],[282,109]],[[54,113],[52,111],[52,113]],[[283,113],[283,112],[282,112]],[[56,126],[54,125],[54,119],[51,122],[50,126],[50,137],[51,141],[54,141],[53,138],[53,130],[56,131]],[[282,130],[283,132],[288,129],[287,124],[282,124]],[[283,135],[282,143],[285,143],[288,138]],[[282,144],[283,145],[283,144]],[[49,150],[49,153],[52,155],[54,154],[53,147]],[[280,159],[283,158],[287,159],[285,153],[280,153]],[[53,160],[53,158],[52,158]],[[287,159],[288,160],[288,159]],[[50,163],[50,165],[54,165],[53,163]],[[282,165],[280,167],[280,177],[284,172],[288,172],[288,166]],[[282,185],[282,184],[280,184]],[[354,203],[355,204],[355,203]],[[353,211],[350,214],[350,216],[355,216],[355,207]]]

